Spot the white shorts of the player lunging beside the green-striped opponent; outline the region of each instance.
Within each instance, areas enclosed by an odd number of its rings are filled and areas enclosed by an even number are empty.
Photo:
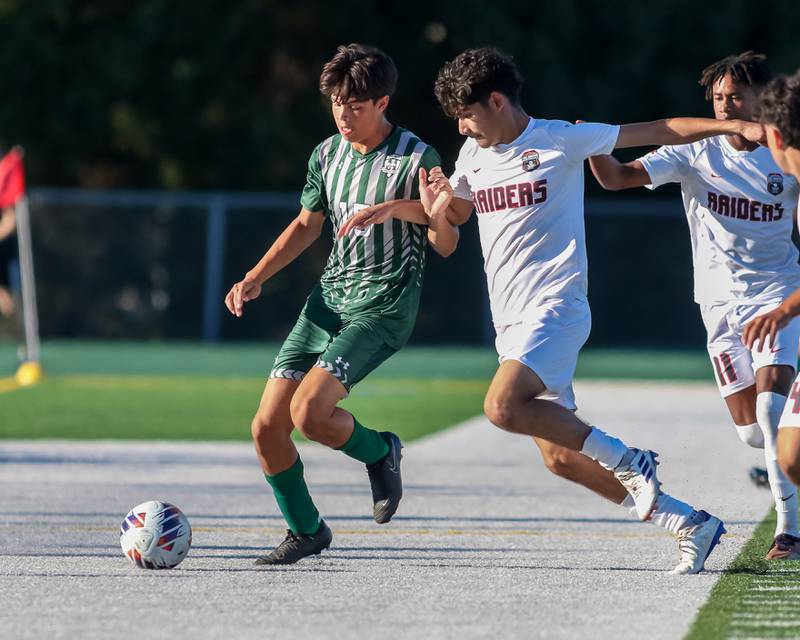
[[[592,314],[586,300],[548,300],[523,322],[495,327],[500,362],[517,360],[547,387],[539,397],[575,410],[572,378],[578,352],[589,337]]]

